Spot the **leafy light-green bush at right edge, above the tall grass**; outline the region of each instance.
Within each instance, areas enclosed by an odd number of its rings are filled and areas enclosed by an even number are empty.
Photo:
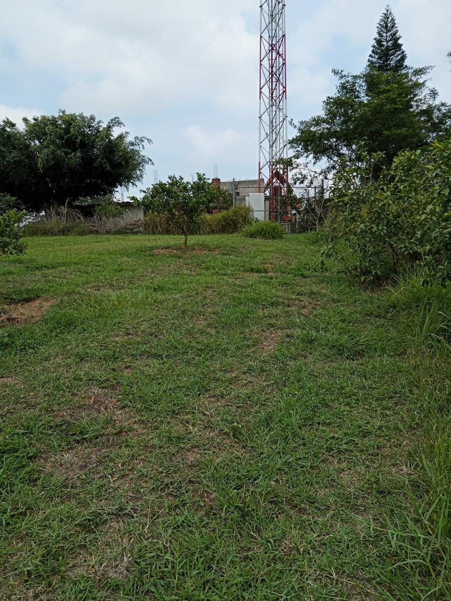
[[[451,140],[427,151],[404,151],[393,165],[373,172],[381,154],[364,151],[358,165],[343,163],[334,178],[332,245],[340,241],[363,280],[396,273],[403,263],[421,267],[425,282],[445,282],[451,273]]]

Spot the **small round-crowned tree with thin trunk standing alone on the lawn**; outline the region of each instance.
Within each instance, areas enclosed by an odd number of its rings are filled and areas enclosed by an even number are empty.
[[[167,182],[159,182],[144,190],[140,204],[156,215],[167,215],[178,225],[185,236],[185,248],[188,246],[188,234],[193,225],[206,213],[217,200],[217,193],[204,174],[197,174],[197,180],[186,182],[183,177],[170,175]]]

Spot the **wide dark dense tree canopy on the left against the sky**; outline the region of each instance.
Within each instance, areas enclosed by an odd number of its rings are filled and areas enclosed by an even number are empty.
[[[0,192],[28,210],[112,194],[143,180],[153,164],[143,151],[149,138],[129,139],[115,117],[103,124],[94,115],[67,113],[23,119],[24,129],[0,124]]]

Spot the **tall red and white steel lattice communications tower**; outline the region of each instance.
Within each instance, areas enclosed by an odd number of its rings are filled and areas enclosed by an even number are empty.
[[[286,4],[260,4],[260,192],[269,197],[271,221],[288,221],[288,115]]]

